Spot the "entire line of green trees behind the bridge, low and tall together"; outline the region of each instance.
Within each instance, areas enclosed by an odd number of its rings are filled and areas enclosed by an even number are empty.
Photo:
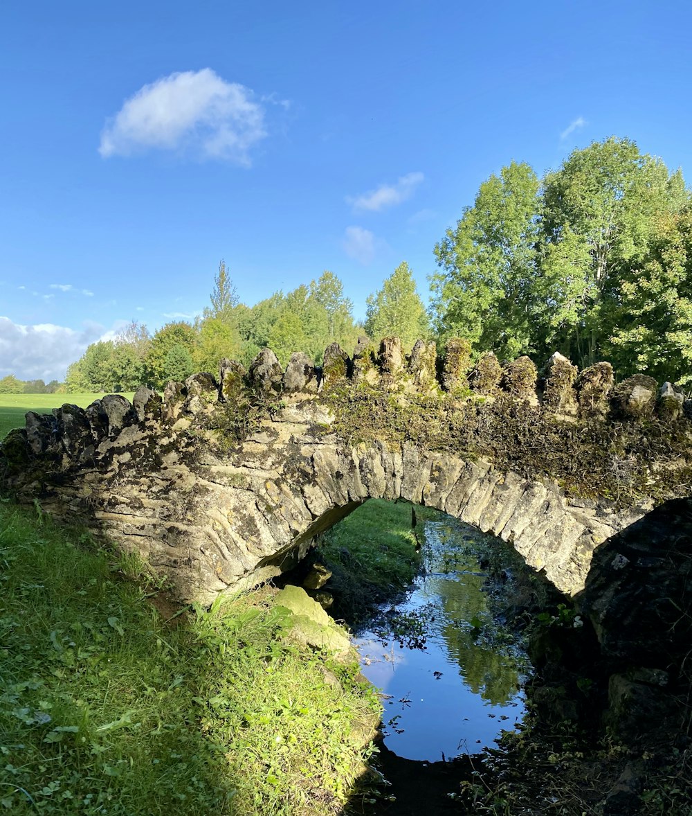
[[[692,381],[690,190],[632,140],[576,149],[542,177],[511,162],[480,185],[434,255],[427,310],[404,262],[368,297],[362,323],[331,272],[250,307],[222,261],[194,323],[153,335],[130,323],[91,344],[62,390],[163,388],[218,370],[221,357],[248,366],[265,346],[284,365],[294,351],[319,364],[328,344],[350,351],[362,334],[399,335],[407,349],[419,337],[440,348],[462,337],[475,357],[526,354],[540,365],[560,351],[581,367],[610,361],[620,376]]]

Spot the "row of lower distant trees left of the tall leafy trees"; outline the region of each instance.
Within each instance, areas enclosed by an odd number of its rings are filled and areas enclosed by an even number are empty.
[[[131,322],[116,339],[91,344],[69,366],[64,391],[132,391],[142,383],[161,389],[170,379],[182,381],[196,371],[217,371],[222,357],[249,366],[266,346],[284,366],[295,351],[306,352],[319,364],[331,343],[353,348],[359,335],[396,333],[411,348],[430,330],[405,263],[368,298],[363,323],[355,322],[342,281],[328,271],[307,286],[287,294],[275,292],[249,307],[240,303],[222,261],[209,301],[194,323],[170,322],[150,335],[146,326]]]

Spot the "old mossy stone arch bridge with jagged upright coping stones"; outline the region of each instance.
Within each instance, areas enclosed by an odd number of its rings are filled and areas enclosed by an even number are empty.
[[[566,593],[595,548],[690,494],[689,406],[670,384],[614,384],[559,354],[472,367],[462,340],[336,344],[320,368],[264,349],[161,397],[29,412],[0,446],[0,482],[139,553],[186,601],[293,565],[366,499],[422,503],[500,536]]]

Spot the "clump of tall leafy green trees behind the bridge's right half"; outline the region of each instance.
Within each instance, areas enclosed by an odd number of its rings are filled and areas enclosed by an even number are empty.
[[[689,378],[689,201],[681,173],[628,139],[577,149],[542,180],[512,162],[435,247],[439,339]]]

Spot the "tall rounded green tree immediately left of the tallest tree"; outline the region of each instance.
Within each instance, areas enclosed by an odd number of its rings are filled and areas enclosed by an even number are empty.
[[[475,350],[500,357],[531,350],[539,186],[529,165],[503,167],[435,246],[443,270],[431,277],[440,339],[465,337]]]

